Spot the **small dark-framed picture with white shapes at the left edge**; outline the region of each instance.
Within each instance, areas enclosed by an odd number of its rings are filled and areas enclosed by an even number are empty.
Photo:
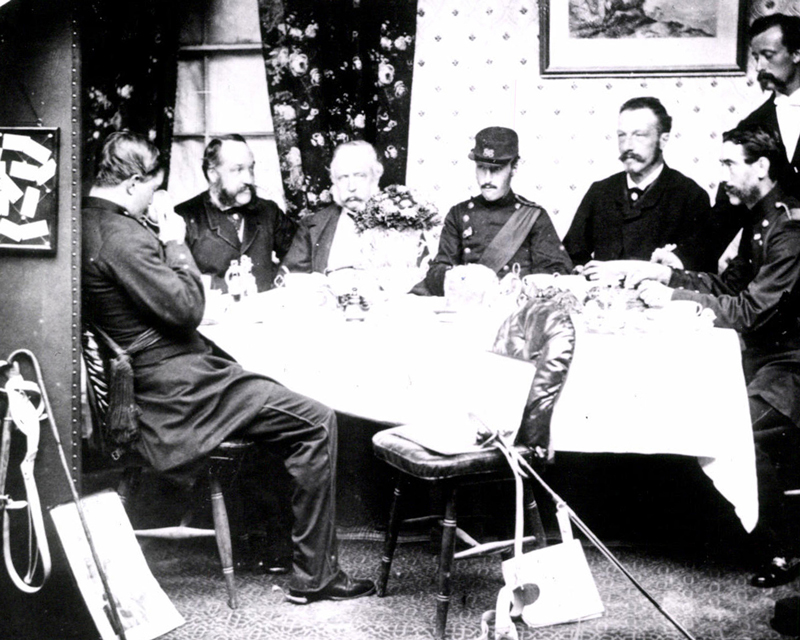
[[[58,129],[0,127],[0,253],[54,255]]]

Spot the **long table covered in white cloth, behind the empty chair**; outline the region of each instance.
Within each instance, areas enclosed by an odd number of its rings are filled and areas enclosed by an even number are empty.
[[[443,298],[398,295],[348,314],[289,288],[218,303],[201,332],[246,369],[338,412],[408,425],[435,450],[470,446],[474,416],[501,430],[521,419],[535,366],[491,352],[508,308],[453,311]],[[758,497],[737,334],[657,319],[634,331],[575,327],[551,448],[692,456],[751,531]]]

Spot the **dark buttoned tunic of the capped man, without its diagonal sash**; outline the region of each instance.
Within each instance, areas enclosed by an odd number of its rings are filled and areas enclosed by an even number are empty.
[[[539,217],[528,237],[497,275],[503,277],[515,264],[519,265],[520,276],[570,273],[572,261],[544,209],[513,191],[494,202],[489,202],[483,196],[475,196],[454,206],[445,217],[439,251],[425,278],[431,293],[444,295],[444,277],[452,267],[479,263],[503,225],[517,209],[526,205],[539,209]]]

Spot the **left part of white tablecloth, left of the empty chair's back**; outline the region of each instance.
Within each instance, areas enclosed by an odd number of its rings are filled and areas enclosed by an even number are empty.
[[[441,426],[473,411],[518,426],[534,367],[489,352],[502,316],[437,313],[441,306],[401,296],[345,321],[335,307],[298,304],[278,289],[201,331],[246,369],[343,413]]]

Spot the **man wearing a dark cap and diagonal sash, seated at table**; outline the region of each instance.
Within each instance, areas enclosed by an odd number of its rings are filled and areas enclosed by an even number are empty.
[[[511,189],[519,161],[517,133],[506,127],[482,129],[469,159],[481,193],[448,212],[425,277],[428,291],[444,295],[445,274],[463,264],[484,265],[501,278],[515,265],[521,277],[570,273],[572,262],[547,212]]]

